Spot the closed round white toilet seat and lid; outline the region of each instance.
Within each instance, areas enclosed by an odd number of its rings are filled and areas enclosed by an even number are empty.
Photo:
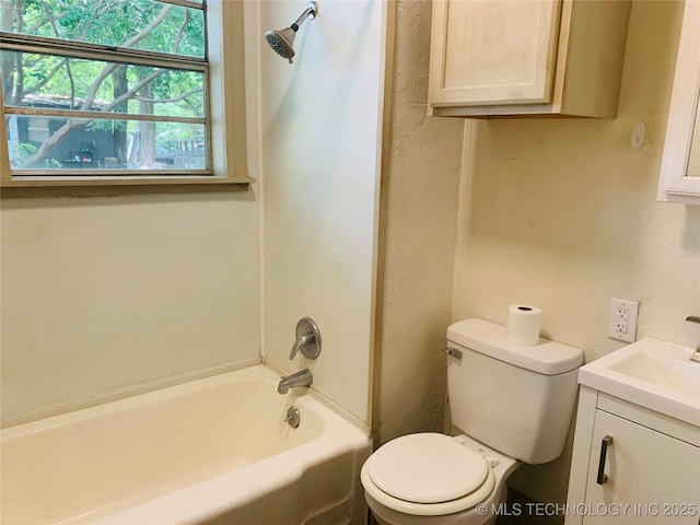
[[[406,514],[453,514],[485,501],[495,476],[481,455],[453,438],[420,433],[397,438],[375,452],[360,472],[378,503]]]

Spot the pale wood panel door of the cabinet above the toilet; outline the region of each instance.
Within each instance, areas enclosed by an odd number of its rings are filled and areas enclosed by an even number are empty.
[[[435,0],[430,104],[551,102],[561,0]]]

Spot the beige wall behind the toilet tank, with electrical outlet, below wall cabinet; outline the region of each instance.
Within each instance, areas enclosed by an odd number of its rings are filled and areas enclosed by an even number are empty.
[[[623,345],[606,337],[616,296],[641,301],[638,337],[682,342],[685,317],[700,312],[700,207],[655,201],[681,12],[633,2],[617,119],[474,125],[456,319],[505,324],[509,304],[535,304],[544,335],[590,361]],[[640,120],[646,142],[634,152]],[[570,454],[512,485],[563,501]]]

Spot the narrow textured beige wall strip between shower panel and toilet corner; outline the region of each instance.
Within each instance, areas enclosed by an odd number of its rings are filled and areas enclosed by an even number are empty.
[[[380,442],[441,431],[463,122],[427,116],[430,1],[396,3]]]

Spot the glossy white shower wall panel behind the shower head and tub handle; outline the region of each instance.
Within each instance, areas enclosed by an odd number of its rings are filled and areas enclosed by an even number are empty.
[[[319,2],[290,65],[262,34],[306,4],[259,3],[264,352],[290,372],[312,369],[314,386],[366,421],[385,5]],[[323,351],[290,362],[305,316]]]

